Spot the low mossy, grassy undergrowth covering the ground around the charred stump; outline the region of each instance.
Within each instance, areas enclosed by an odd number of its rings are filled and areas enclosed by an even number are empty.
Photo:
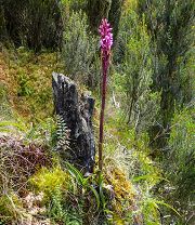
[[[93,174],[83,175],[57,150],[66,150],[70,140],[62,118],[52,118],[51,71],[61,71],[58,64],[54,66],[56,54],[35,56],[23,48],[3,54],[0,223],[160,224],[161,209],[171,207],[155,193],[165,178],[150,158],[147,134],[138,136],[109,101],[104,170],[100,175],[95,167]],[[95,129],[98,120],[95,109]]]

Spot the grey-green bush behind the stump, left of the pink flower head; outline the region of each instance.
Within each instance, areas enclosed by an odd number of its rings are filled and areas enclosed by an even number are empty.
[[[87,16],[81,11],[73,12],[65,25],[62,51],[65,71],[72,79],[90,81],[96,50],[98,40],[89,31]]]

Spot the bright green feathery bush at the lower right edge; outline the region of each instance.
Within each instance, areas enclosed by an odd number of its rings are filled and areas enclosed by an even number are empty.
[[[186,223],[193,215],[193,202],[195,201],[194,114],[195,110],[192,106],[192,108],[183,109],[174,115],[169,150],[164,158],[165,171],[171,185],[167,197],[171,196],[169,201],[181,213],[182,223]]]

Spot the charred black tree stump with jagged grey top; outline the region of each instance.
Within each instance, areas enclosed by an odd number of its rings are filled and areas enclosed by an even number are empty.
[[[52,78],[55,112],[63,117],[70,130],[70,149],[61,153],[62,157],[83,172],[92,172],[95,156],[92,128],[94,100],[84,94],[79,97],[76,84],[64,75],[53,72]]]

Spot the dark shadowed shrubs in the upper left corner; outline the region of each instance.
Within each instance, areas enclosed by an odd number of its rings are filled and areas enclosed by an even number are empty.
[[[15,45],[27,45],[36,52],[41,48],[60,47],[62,18],[58,3],[55,0],[3,0],[1,11],[8,35]]]

